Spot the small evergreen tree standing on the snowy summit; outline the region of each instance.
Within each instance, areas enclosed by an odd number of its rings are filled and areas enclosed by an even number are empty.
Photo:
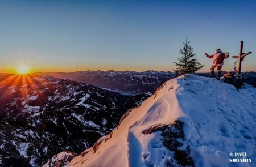
[[[196,54],[193,53],[192,46],[189,45],[189,42],[186,42],[182,49],[180,49],[180,53],[182,54],[180,58],[178,58],[179,62],[173,62],[175,63],[175,66],[177,67],[174,72],[176,74],[187,74],[187,73],[195,73],[199,71],[201,68],[204,67],[204,65],[201,65],[198,60],[195,58]]]

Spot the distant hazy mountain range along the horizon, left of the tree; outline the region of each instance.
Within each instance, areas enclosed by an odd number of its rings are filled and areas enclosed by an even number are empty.
[[[49,75],[61,79],[70,79],[89,83],[97,87],[129,93],[154,93],[155,89],[167,80],[174,78],[173,72],[164,71],[77,71],[47,72],[38,75]]]

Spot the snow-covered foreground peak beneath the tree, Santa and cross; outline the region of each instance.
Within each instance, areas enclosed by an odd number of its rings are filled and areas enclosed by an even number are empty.
[[[197,75],[168,80],[93,147],[44,167],[256,166],[256,90],[245,87]]]

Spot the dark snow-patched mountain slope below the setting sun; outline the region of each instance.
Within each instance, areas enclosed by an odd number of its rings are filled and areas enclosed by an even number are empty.
[[[0,166],[40,166],[65,149],[81,152],[146,97],[51,76],[6,76],[0,80]]]

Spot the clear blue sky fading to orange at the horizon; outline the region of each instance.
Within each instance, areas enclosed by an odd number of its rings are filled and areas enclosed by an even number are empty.
[[[0,72],[26,63],[34,72],[174,68],[186,35],[209,71],[217,48],[253,52],[256,1],[0,1]],[[233,69],[233,58],[224,70]]]

